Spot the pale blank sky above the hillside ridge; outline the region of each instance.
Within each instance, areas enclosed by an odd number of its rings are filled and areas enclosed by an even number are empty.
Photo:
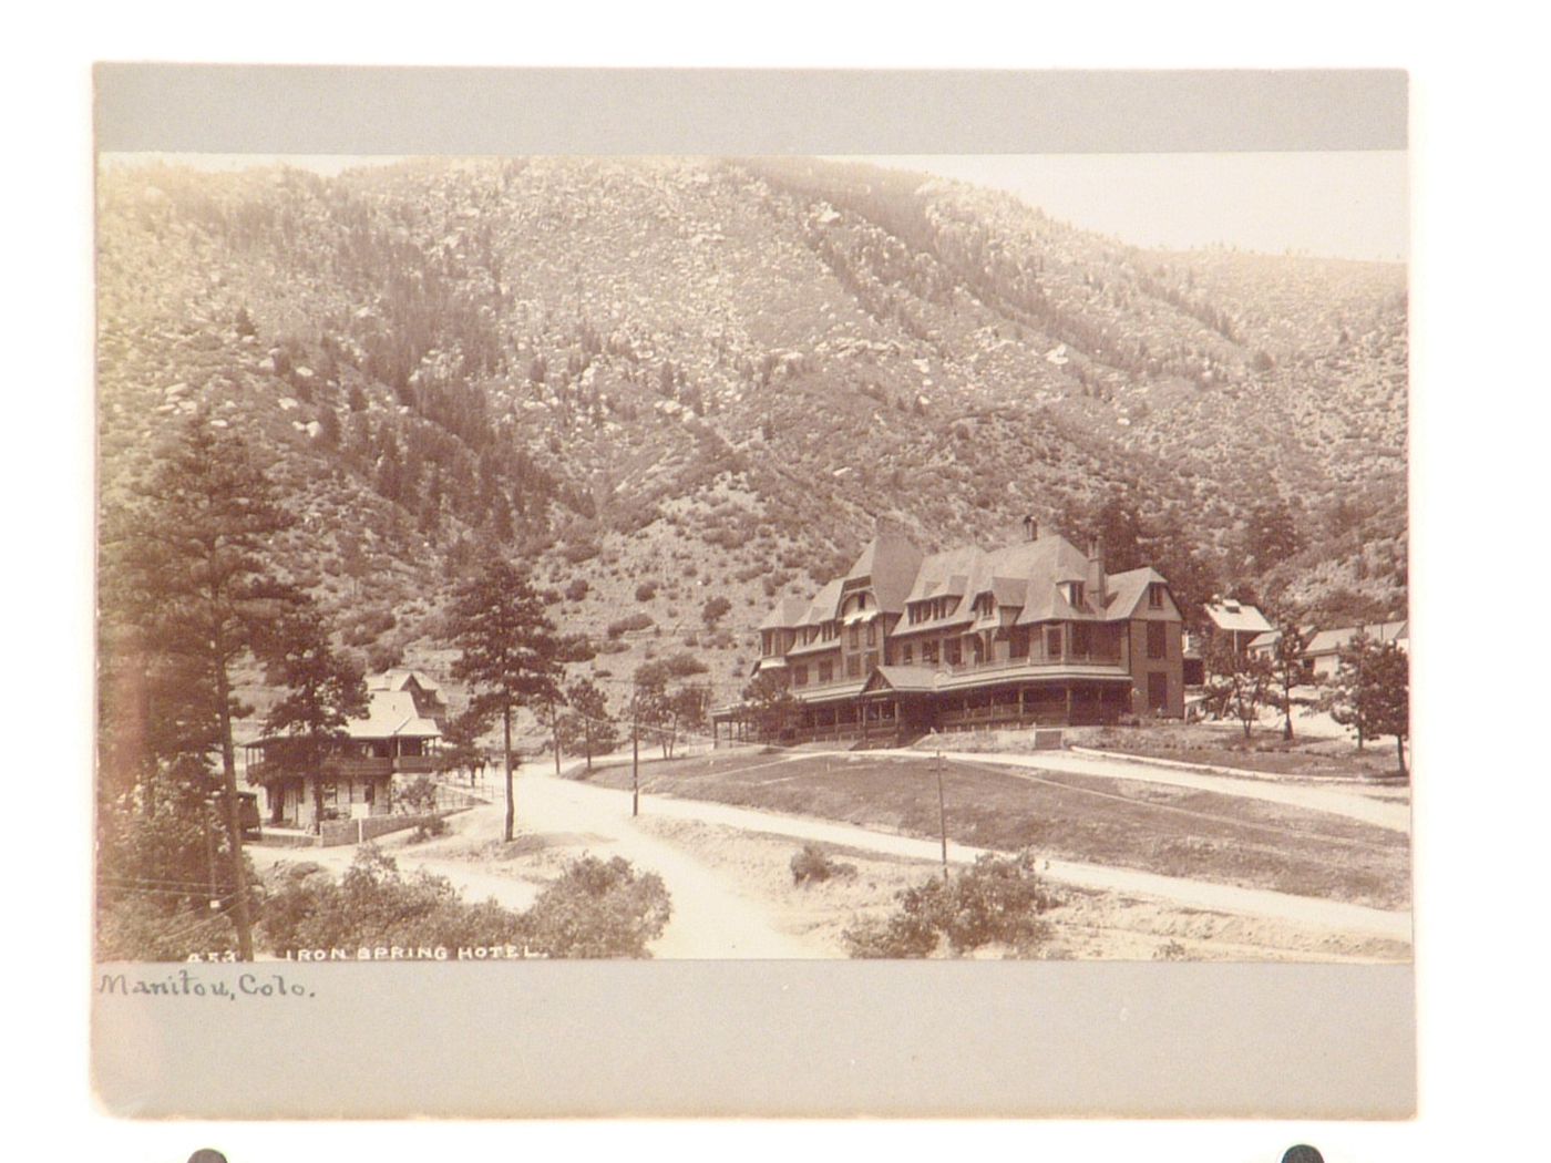
[[[338,174],[396,157],[104,155],[205,169],[285,163]],[[1227,245],[1264,254],[1404,262],[1407,154],[1044,154],[851,158],[1003,189],[1050,217],[1135,247]]]

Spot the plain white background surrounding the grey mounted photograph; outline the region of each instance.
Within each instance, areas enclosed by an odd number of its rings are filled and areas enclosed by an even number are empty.
[[[11,14],[5,198],[8,1104],[23,1155],[181,1163],[672,1152],[710,1158],[1532,1157],[1546,1068],[1545,40],[1520,6],[464,3]],[[23,9],[29,11],[29,9]],[[39,9],[31,9],[39,11]],[[1087,11],[1084,8],[1083,11]],[[93,59],[727,67],[1404,67],[1413,116],[1413,659],[1421,1115],[1404,1124],[135,1124],[87,1084]],[[253,1068],[284,1068],[254,1062]]]

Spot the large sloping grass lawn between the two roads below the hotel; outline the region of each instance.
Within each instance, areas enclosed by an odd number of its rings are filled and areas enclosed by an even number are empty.
[[[630,786],[630,768],[592,782]],[[642,769],[645,794],[717,800],[935,837],[931,757],[710,755]],[[1404,909],[1401,833],[1235,795],[1089,775],[949,761],[948,834],[960,844]]]

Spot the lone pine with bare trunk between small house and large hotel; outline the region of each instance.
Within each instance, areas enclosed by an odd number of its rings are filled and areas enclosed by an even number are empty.
[[[453,678],[475,692],[481,715],[501,718],[506,771],[504,837],[512,839],[516,806],[512,794],[512,715],[518,707],[548,704],[561,675],[561,644],[544,613],[543,599],[526,574],[492,558],[458,586],[448,608],[448,631],[459,648]]]

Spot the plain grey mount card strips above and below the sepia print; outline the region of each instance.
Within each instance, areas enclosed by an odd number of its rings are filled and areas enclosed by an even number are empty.
[[[96,84],[101,152],[855,155],[1407,144],[1407,78],[1393,70],[115,64],[96,68]],[[110,971],[127,968],[99,974]],[[244,972],[270,972],[197,971],[233,985]],[[1404,1118],[1416,1103],[1408,965],[287,971],[307,996],[275,1000],[276,1009],[99,994],[93,1058],[102,1104],[123,1115],[206,1118]],[[234,1025],[242,1037],[231,1036]],[[382,1070],[409,1054],[422,1064],[413,1090]],[[244,1068],[281,1056],[284,1072]]]

